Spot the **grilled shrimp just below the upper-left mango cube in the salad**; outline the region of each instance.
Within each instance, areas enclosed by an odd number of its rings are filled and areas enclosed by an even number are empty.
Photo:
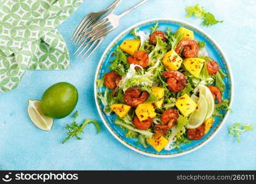
[[[147,67],[150,63],[150,57],[148,56],[147,52],[139,50],[135,51],[133,56],[129,56],[127,61],[129,64],[138,64],[141,67]],[[137,66],[135,68],[140,69],[140,67]]]

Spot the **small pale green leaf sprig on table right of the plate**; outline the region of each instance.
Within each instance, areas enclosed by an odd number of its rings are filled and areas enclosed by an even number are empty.
[[[236,137],[237,142],[241,142],[240,140],[240,134],[245,131],[252,131],[254,128],[251,124],[241,124],[241,123],[234,123],[233,125],[230,125],[230,135]]]

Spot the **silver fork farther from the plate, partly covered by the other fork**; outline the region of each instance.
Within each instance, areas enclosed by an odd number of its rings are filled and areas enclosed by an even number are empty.
[[[99,12],[92,12],[86,15],[86,17],[83,18],[81,23],[76,27],[76,30],[74,31],[73,35],[71,36],[71,40],[74,41],[75,44],[79,41],[79,35],[81,32],[88,28],[89,26],[93,25],[96,21],[98,21],[103,15],[105,15],[106,12],[108,12],[112,8],[116,8],[118,4],[121,2],[121,0],[114,1],[109,7],[107,7],[105,10],[99,11]]]

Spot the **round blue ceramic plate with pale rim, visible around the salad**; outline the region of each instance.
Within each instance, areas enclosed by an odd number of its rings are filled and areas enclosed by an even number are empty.
[[[172,32],[177,31],[180,26],[183,26],[185,28],[188,28],[194,32],[194,37],[196,40],[202,40],[206,42],[206,50],[209,53],[209,56],[213,58],[215,61],[220,64],[220,68],[223,69],[223,72],[227,74],[227,77],[225,77],[224,82],[226,86],[226,90],[223,94],[223,99],[229,99],[230,100],[230,106],[232,104],[233,99],[233,77],[230,69],[230,65],[223,54],[222,50],[216,42],[208,36],[204,31],[202,31],[199,28],[196,28],[193,25],[190,25],[189,23],[186,23],[184,21],[180,20],[170,20],[170,19],[154,19],[154,20],[146,20],[141,23],[138,23],[137,25],[131,26],[130,28],[123,31],[121,34],[119,34],[116,39],[114,39],[111,44],[106,48],[105,52],[102,55],[102,58],[100,59],[100,63],[98,63],[97,72],[95,75],[95,82],[94,82],[94,95],[95,95],[95,102],[97,105],[98,113],[100,114],[100,117],[102,118],[103,123],[105,124],[108,131],[111,132],[111,134],[119,140],[122,144],[126,145],[126,147],[137,151],[138,153],[142,153],[143,155],[147,156],[154,156],[154,157],[161,157],[161,158],[167,158],[167,157],[174,157],[174,156],[180,156],[185,155],[186,153],[190,153],[191,151],[194,151],[202,145],[205,145],[207,142],[209,142],[212,137],[214,137],[218,130],[222,127],[223,123],[226,120],[226,117],[228,117],[229,112],[222,112],[223,113],[223,119],[221,118],[215,118],[215,122],[213,128],[210,129],[210,131],[202,137],[200,140],[193,140],[190,144],[185,144],[180,146],[180,150],[173,149],[170,151],[162,150],[160,152],[154,150],[153,147],[149,146],[147,148],[144,148],[141,144],[137,144],[137,139],[133,138],[127,138],[126,132],[120,128],[119,126],[114,125],[114,120],[116,119],[116,115],[110,115],[110,117],[106,116],[103,112],[103,104],[98,99],[98,92],[105,92],[105,86],[102,88],[98,88],[97,86],[97,79],[102,79],[103,74],[110,71],[108,68],[110,66],[110,61],[113,60],[113,51],[116,48],[116,45],[121,45],[123,40],[126,39],[134,39],[134,37],[129,34],[132,29],[139,28],[140,30],[150,33],[151,27],[154,26],[155,23],[158,23],[159,30],[166,31],[168,27],[170,27],[170,30]]]

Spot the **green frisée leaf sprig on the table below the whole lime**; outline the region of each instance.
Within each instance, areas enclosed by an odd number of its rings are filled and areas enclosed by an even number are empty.
[[[81,140],[82,138],[78,136],[83,132],[84,127],[86,127],[88,123],[94,123],[95,127],[97,128],[97,133],[100,132],[100,126],[98,125],[97,121],[86,119],[84,120],[84,123],[82,123],[82,125],[78,125],[78,123],[76,123],[76,118],[78,118],[78,111],[74,113],[74,120],[72,121],[72,124],[66,124],[65,129],[68,130],[68,137],[66,137],[62,141],[62,144],[64,144],[67,140],[71,139],[72,137],[76,137],[76,139]]]

